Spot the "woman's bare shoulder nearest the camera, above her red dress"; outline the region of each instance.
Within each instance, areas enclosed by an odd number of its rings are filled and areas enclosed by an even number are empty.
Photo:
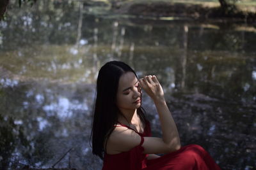
[[[111,132],[108,143],[108,154],[116,154],[120,152],[127,152],[140,145],[141,137],[136,132],[128,129],[127,127],[115,127]]]

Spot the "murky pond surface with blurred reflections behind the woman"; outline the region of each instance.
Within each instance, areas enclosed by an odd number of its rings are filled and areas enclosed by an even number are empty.
[[[203,146],[222,169],[256,168],[255,25],[59,2],[12,4],[0,22],[0,169],[101,169],[89,141],[97,72],[109,60],[157,75],[182,145]],[[145,93],[143,107],[160,136]]]

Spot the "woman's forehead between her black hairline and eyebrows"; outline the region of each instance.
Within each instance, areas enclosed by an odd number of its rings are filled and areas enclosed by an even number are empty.
[[[119,79],[118,89],[122,90],[127,87],[131,87],[132,85],[134,85],[134,83],[136,83],[136,81],[138,81],[138,79],[131,71],[124,73]]]

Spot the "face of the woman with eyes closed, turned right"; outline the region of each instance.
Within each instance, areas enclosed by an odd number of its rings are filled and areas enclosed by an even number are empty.
[[[120,111],[135,110],[141,106],[141,88],[131,71],[124,73],[119,79],[116,105]]]

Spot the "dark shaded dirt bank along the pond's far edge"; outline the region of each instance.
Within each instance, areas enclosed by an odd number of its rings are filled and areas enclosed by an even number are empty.
[[[114,4],[116,13],[145,17],[186,17],[195,20],[236,20],[256,22],[256,13],[238,10],[222,10],[219,6],[203,6],[187,3],[119,3]]]

